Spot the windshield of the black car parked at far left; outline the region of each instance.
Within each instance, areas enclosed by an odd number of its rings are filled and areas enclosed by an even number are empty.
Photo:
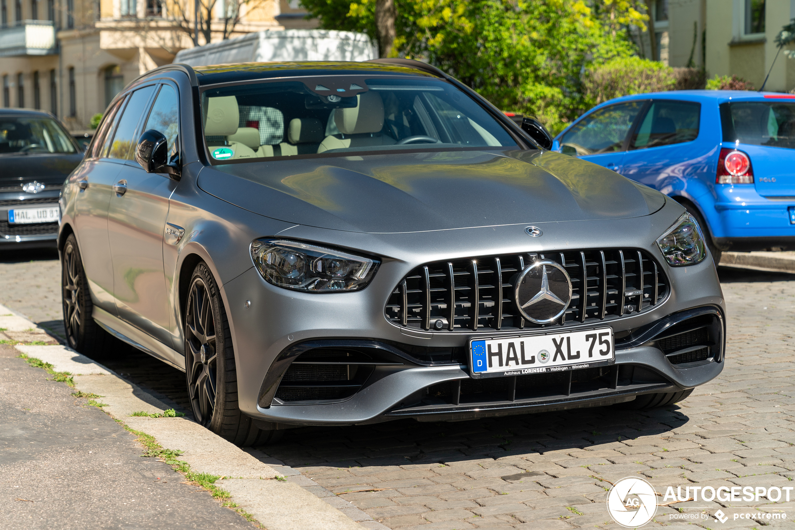
[[[0,116],[0,153],[76,153],[52,118]]]

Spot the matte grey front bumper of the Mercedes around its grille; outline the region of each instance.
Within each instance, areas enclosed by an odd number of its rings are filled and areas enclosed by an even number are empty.
[[[711,311],[719,314],[723,322],[723,296],[712,260],[706,259],[698,265],[688,267],[669,267],[654,246],[653,241],[675,221],[679,213],[674,208],[668,210],[665,219],[661,219],[661,215],[653,215],[641,220],[591,222],[589,224],[596,232],[589,230],[588,234],[572,236],[565,246],[569,249],[611,248],[617,246],[615,234],[621,234],[622,230],[629,231],[632,237],[622,238],[624,240],[621,245],[646,250],[665,269],[672,287],[670,296],[649,311],[611,320],[609,325],[617,337],[629,335],[629,331],[648,329],[655,323],[661,323],[669,315],[693,308],[712,308]],[[580,223],[549,224],[554,224],[548,227],[552,231],[574,230]],[[649,346],[646,343],[648,341],[638,344],[625,341],[617,343],[615,366],[610,366],[605,373],[599,374],[599,385],[594,387],[593,384],[588,386],[584,383],[579,387],[570,386],[568,395],[561,392],[541,397],[520,397],[514,401],[492,399],[471,403],[460,400],[458,404],[451,404],[450,400],[445,400],[442,396],[439,402],[434,402],[429,399],[429,387],[433,387],[434,392],[441,389],[440,393],[444,394],[444,389],[458,385],[459,381],[471,381],[467,366],[457,362],[445,366],[434,362],[423,365],[421,362],[405,359],[403,366],[383,368],[382,377],[370,377],[357,393],[344,400],[316,404],[281,404],[272,399],[276,389],[274,385],[278,385],[279,377],[284,373],[278,366],[281,355],[285,351],[301,350],[300,346],[304,344],[323,341],[343,341],[350,344],[364,341],[386,344],[397,350],[401,350],[401,345],[405,346],[403,350],[411,347],[462,349],[472,337],[483,339],[501,335],[501,332],[494,330],[487,332],[487,335],[480,332],[444,334],[409,330],[389,323],[384,315],[384,307],[395,285],[421,263],[515,251],[520,243],[521,251],[527,251],[530,243],[527,242],[523,228],[521,226],[517,230],[510,226],[451,230],[453,234],[449,234],[450,237],[444,244],[438,242],[438,237],[427,233],[378,236],[378,241],[372,242],[372,246],[381,243],[383,248],[378,253],[385,258],[372,284],[362,292],[332,295],[293,292],[266,283],[254,268],[228,281],[223,285],[223,296],[230,315],[238,363],[240,408],[256,420],[282,425],[366,424],[399,417],[463,420],[618,403],[632,400],[641,393],[678,392],[710,381],[723,369],[722,342],[717,345],[720,354],[712,362],[677,368],[672,366],[661,350]],[[513,234],[506,235],[506,241],[503,242],[501,236],[509,231],[521,231],[522,238],[514,242],[511,240],[514,238]],[[334,235],[335,245],[351,249],[362,248],[363,239],[374,239],[370,234],[347,234],[350,241],[344,241],[344,238],[339,238],[339,233],[332,230],[305,226],[291,232],[294,232],[291,234],[293,238],[320,242],[328,242]],[[545,229],[545,234],[547,233],[548,230]],[[599,241],[600,238],[604,241]],[[494,241],[501,244],[495,245]],[[536,242],[532,244],[537,245]],[[557,246],[561,247],[564,246]],[[396,248],[411,248],[417,255],[401,256]],[[484,252],[483,249],[487,250]],[[390,253],[393,257],[389,257]],[[395,255],[398,257],[394,257]],[[595,326],[567,326],[566,331],[592,327]],[[525,333],[530,334],[531,330]],[[720,341],[723,341],[724,335],[722,333]],[[627,370],[640,375],[633,377]]]

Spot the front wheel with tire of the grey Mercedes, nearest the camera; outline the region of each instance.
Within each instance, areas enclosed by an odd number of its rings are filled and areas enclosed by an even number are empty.
[[[207,265],[196,265],[184,311],[185,378],[196,422],[238,446],[274,442],[238,407],[235,351],[227,311]]]

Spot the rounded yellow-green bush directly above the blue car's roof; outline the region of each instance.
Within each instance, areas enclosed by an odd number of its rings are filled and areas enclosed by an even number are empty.
[[[673,90],[673,68],[640,57],[620,57],[588,69],[583,79],[585,100],[598,105],[622,95]]]

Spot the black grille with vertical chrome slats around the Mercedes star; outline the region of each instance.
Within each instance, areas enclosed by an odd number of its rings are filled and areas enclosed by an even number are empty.
[[[525,266],[538,258],[563,265],[572,280],[568,308],[556,323],[548,326],[637,314],[659,304],[669,292],[665,274],[642,250],[568,250],[471,257],[436,261],[411,271],[390,295],[386,318],[398,326],[434,332],[542,327],[518,313],[512,283]],[[633,291],[642,294],[626,295]]]

